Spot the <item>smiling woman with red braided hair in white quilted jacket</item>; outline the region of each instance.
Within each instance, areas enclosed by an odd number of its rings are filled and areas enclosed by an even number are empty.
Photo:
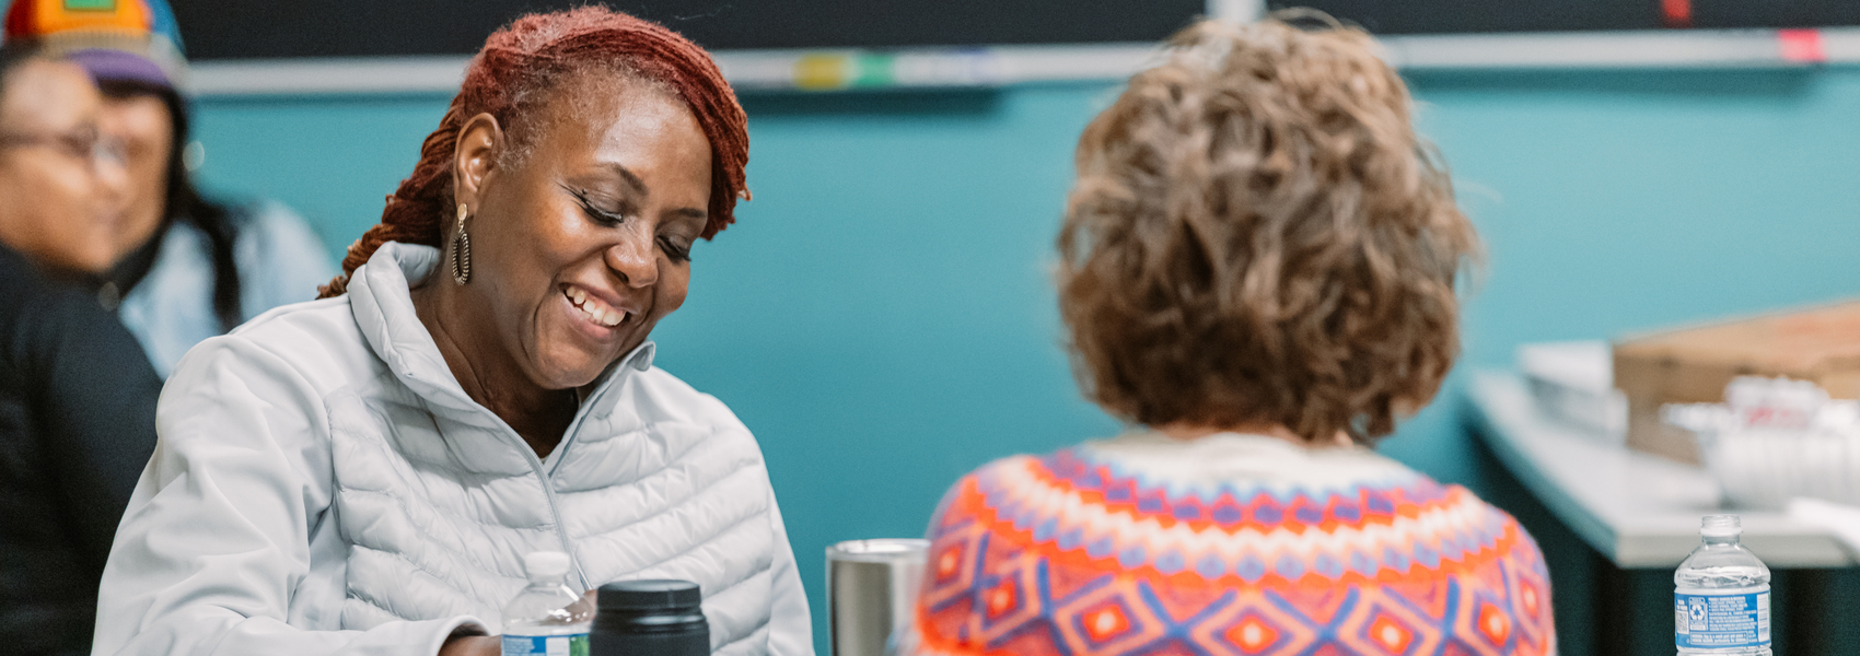
[[[324,299],[190,351],[97,654],[495,654],[523,559],[703,587],[718,654],[811,654],[761,450],[653,368],[744,190],[709,54],[599,7],[493,33]]]

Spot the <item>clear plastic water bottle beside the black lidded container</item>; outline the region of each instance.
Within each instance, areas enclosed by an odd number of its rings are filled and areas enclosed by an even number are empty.
[[[562,585],[569,554],[532,552],[523,571],[530,585],[504,606],[504,656],[588,656],[593,608]]]

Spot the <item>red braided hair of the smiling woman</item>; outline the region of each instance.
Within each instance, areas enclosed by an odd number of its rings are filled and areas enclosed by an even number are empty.
[[[381,223],[350,245],[342,275],[320,288],[322,297],[346,292],[350,273],[368,262],[381,243],[443,243],[454,208],[452,154],[465,121],[489,113],[521,149],[528,136],[525,115],[565,74],[588,67],[627,71],[684,100],[711,139],[711,221],[703,238],[735,223],[737,199],[750,197],[742,171],[750,164],[750,130],[735,91],[711,54],[657,22],[599,6],[536,13],[485,39],[439,128],[420,145],[420,164],[387,197]]]

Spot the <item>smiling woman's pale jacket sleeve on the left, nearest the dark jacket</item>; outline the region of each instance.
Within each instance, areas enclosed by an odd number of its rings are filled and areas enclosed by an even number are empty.
[[[471,617],[366,632],[292,626],[329,509],[322,396],[232,335],[180,361],[158,444],[104,567],[93,654],[435,654]]]

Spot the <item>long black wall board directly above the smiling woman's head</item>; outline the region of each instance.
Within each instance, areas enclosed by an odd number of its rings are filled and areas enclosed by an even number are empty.
[[[512,19],[588,0],[175,0],[193,59],[478,52]],[[1159,41],[1205,0],[610,0],[712,50]]]

